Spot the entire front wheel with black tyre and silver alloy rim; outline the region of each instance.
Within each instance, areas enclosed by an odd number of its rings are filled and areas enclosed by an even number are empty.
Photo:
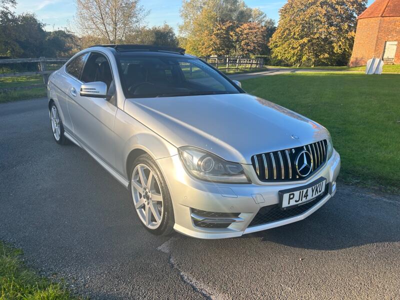
[[[175,223],[165,180],[148,154],[138,156],[130,170],[130,195],[140,223],[155,235],[168,235]]]

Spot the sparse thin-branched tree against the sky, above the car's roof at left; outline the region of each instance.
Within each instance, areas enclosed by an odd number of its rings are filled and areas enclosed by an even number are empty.
[[[105,43],[124,43],[126,34],[137,30],[147,16],[139,0],[76,0],[78,33]]]

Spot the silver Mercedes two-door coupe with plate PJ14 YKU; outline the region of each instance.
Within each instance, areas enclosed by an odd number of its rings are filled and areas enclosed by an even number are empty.
[[[89,47],[51,74],[47,95],[55,141],[128,188],[154,234],[240,236],[302,220],[336,192],[326,128],[184,49]]]

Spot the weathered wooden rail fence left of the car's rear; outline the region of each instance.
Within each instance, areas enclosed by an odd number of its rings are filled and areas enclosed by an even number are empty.
[[[46,58],[46,57],[0,59],[0,66],[2,66],[3,64],[10,64],[10,63],[13,63],[13,64],[16,64],[16,63],[37,63],[37,71],[0,73],[0,78],[4,78],[4,77],[20,77],[20,76],[33,76],[33,75],[41,75],[42,78],[43,78],[43,83],[31,84],[31,85],[26,85],[26,86],[0,88],[0,93],[1,92],[14,91],[14,90],[31,89],[31,88],[36,88],[36,87],[44,87],[47,84],[48,75],[56,70],[56,68],[52,68],[51,66],[53,66],[54,64],[64,63],[68,59],[69,58]]]

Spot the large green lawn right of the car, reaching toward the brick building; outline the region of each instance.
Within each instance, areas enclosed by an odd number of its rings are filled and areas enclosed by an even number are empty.
[[[304,72],[242,81],[243,88],[327,127],[348,183],[400,190],[400,75]]]

